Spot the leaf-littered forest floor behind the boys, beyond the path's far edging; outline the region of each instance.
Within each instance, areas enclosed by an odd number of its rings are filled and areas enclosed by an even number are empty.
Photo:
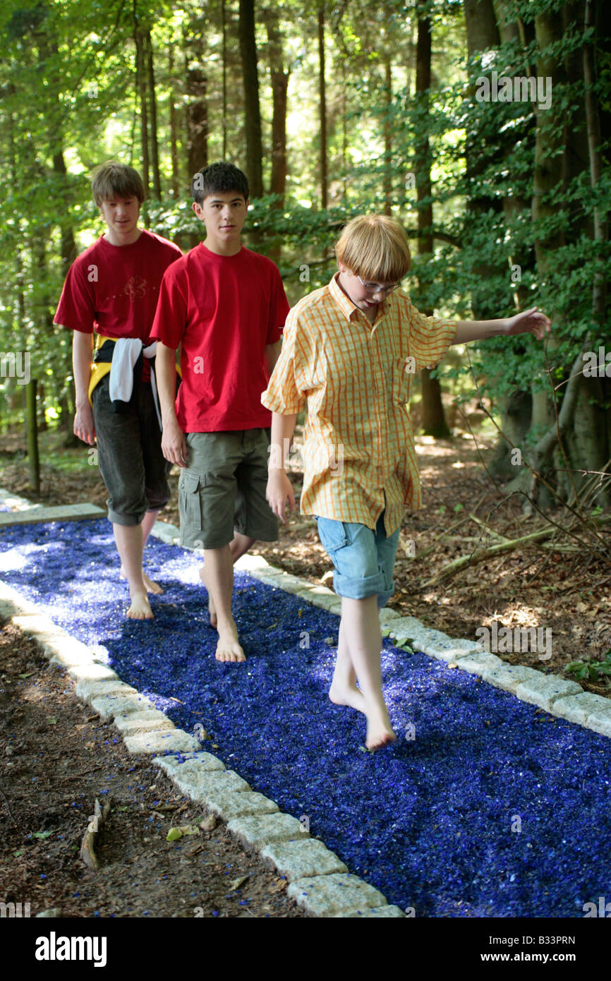
[[[493,430],[483,425],[482,412],[470,412],[467,418],[472,432],[455,429],[449,440],[416,438],[424,506],[406,513],[389,607],[454,638],[478,640],[478,628],[490,627],[493,621],[499,630],[535,627],[551,632],[541,634],[551,638],[551,657],[544,659],[540,648],[503,650],[499,643],[498,654],[510,663],[561,673],[572,661],[604,661],[611,650],[609,566],[592,558],[586,548],[562,550],[572,546],[566,536],[556,543],[521,545],[431,583],[453,559],[481,549],[486,538],[488,544],[495,543],[489,533],[515,540],[545,523],[536,513],[524,514],[522,495],[506,496],[495,486],[485,470],[493,452]],[[90,501],[104,506],[106,490],[97,467],[89,465],[90,450],[84,444],[66,448],[62,439],[65,442],[65,436],[41,435],[41,489],[34,497],[27,488],[23,435],[0,436],[0,487],[47,504]],[[291,472],[290,479],[298,493],[301,475]],[[172,500],[162,517],[178,525],[177,467],[171,485]],[[562,524],[561,510],[549,516]],[[331,561],[309,516],[291,513],[280,527],[280,541],[259,542],[253,552],[312,583],[332,585]],[[512,637],[517,639],[514,633]],[[514,646],[520,648],[519,640]],[[549,646],[543,647],[546,655]],[[611,697],[611,681],[604,674],[579,680],[587,691]]]

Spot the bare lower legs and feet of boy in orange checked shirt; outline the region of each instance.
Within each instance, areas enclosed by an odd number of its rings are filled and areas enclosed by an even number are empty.
[[[365,745],[368,749],[380,749],[387,743],[393,743],[396,738],[382,696],[381,648],[382,632],[377,596],[368,596],[366,599],[347,599],[342,596],[340,648],[337,650],[330,697],[332,701],[343,701],[344,704],[351,704],[365,712]],[[361,686],[359,694],[363,698],[363,707],[355,695],[359,690],[352,687],[352,673],[347,668],[348,658]]]

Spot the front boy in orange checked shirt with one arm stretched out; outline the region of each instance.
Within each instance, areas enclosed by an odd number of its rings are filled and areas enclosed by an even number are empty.
[[[406,403],[414,372],[451,344],[531,333],[548,318],[536,307],[502,320],[425,317],[399,288],[410,267],[403,228],[382,215],[353,219],[335,246],[338,273],[291,310],[280,358],[262,396],[272,409],[267,498],[281,521],[294,496],[285,454],[306,408],[301,511],[316,515],[341,596],[330,697],[367,718],[366,746],[395,739],[382,695],[379,607],[392,570],[405,507],[422,507]],[[357,687],[357,681],[360,687]]]

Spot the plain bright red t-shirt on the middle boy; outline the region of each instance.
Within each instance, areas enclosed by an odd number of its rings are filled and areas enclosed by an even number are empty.
[[[226,256],[200,242],[166,271],[151,337],[181,343],[184,433],[271,425],[264,348],[280,340],[289,309],[278,267],[244,246]]]

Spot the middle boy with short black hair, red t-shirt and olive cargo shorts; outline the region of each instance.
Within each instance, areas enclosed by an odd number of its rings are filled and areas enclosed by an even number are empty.
[[[162,449],[181,468],[181,541],[204,551],[200,576],[219,631],[217,660],[243,661],[231,614],[233,562],[255,541],[278,539],[265,497],[272,415],[261,392],[280,354],[289,307],[275,264],[240,243],[246,176],[232,164],[212,164],[194,176],[191,189],[206,238],[167,270],[151,332],[158,341]]]

